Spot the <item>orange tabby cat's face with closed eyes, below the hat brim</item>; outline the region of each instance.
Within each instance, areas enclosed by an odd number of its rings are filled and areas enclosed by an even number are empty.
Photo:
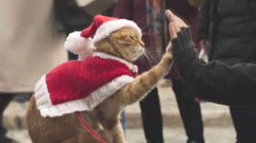
[[[134,28],[124,27],[95,43],[96,51],[108,53],[127,61],[135,61],[144,52],[144,43]]]

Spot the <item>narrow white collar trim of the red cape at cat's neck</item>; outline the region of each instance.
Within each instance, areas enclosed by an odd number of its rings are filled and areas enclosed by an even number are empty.
[[[99,58],[105,58],[105,59],[111,59],[111,60],[119,61],[121,63],[124,63],[132,72],[138,72],[138,66],[136,66],[132,63],[129,63],[128,61],[126,61],[124,59],[115,57],[113,55],[108,55],[107,53],[97,52],[97,53],[94,53],[92,56],[97,56]]]

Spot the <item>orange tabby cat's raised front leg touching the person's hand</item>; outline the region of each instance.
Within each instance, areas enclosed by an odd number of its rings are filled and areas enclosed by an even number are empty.
[[[173,63],[173,56],[171,53],[171,45],[166,48],[166,53],[163,55],[162,60],[149,71],[139,75],[132,82],[129,82],[121,90],[115,94],[118,98],[118,104],[127,106],[140,101],[143,96],[146,96],[152,90],[159,80],[170,71]]]

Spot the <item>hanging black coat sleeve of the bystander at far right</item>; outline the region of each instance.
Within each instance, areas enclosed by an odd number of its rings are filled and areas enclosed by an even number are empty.
[[[202,0],[197,20],[197,41],[208,39],[210,28],[210,9],[212,0]]]

